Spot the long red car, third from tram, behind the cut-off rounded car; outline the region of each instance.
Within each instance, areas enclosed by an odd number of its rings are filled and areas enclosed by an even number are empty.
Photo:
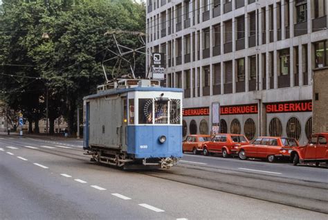
[[[238,156],[241,160],[266,158],[272,163],[277,158],[289,158],[293,147],[298,146],[294,138],[258,137],[252,144],[239,147]]]

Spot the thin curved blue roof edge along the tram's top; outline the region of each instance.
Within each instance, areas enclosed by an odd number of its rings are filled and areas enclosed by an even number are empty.
[[[171,91],[171,92],[183,92],[183,89],[180,88],[167,88],[167,87],[134,87],[134,88],[127,88],[127,89],[109,89],[102,91],[101,93],[96,93],[93,95],[87,95],[83,98],[83,100],[89,100],[93,98],[100,98],[102,96],[106,95],[115,95],[115,94],[121,94],[121,93],[128,93],[132,91]]]

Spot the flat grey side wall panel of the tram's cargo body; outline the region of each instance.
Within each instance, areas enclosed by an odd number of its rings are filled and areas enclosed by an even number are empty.
[[[91,100],[90,145],[119,148],[121,145],[121,126],[122,99],[120,97]]]

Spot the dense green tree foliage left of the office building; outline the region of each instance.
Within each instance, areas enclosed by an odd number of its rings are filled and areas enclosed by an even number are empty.
[[[49,118],[66,116],[72,131],[82,97],[104,82],[100,64],[105,48],[116,50],[104,33],[144,32],[145,6],[131,0],[3,0],[0,27],[0,73],[13,75],[0,75],[1,90],[7,91],[3,99],[37,121],[45,117],[48,85]],[[48,38],[42,38],[45,33]],[[138,37],[125,34],[118,38],[122,45],[142,46]],[[107,71],[114,66],[115,62],[108,62]],[[145,57],[138,57],[136,66],[145,75]],[[127,72],[125,65],[121,73]]]

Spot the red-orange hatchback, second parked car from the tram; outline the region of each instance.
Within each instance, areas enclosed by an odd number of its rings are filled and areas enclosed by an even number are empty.
[[[203,154],[222,154],[224,158],[237,154],[238,147],[249,145],[249,140],[241,134],[217,134],[211,141],[203,144]]]

